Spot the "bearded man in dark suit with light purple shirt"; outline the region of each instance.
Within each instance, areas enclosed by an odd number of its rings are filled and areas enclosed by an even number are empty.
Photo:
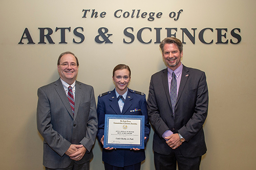
[[[206,153],[203,124],[208,111],[205,73],[181,63],[183,44],[174,37],[160,43],[167,68],[151,77],[148,117],[155,129],[156,169],[199,169]]]

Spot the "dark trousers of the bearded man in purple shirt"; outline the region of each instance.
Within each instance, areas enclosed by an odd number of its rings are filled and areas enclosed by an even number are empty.
[[[169,155],[162,155],[154,152],[156,170],[176,170],[178,163],[179,170],[199,170],[202,156],[185,158],[179,148]]]

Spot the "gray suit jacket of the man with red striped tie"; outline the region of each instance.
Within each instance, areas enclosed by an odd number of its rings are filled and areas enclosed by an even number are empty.
[[[92,86],[76,81],[75,117],[58,79],[37,91],[37,129],[44,138],[44,166],[65,168],[71,159],[65,152],[71,144],[83,144],[87,152],[77,164],[92,159],[97,134],[97,113]]]

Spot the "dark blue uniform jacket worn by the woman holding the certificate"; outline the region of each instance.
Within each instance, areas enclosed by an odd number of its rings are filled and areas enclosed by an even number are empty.
[[[140,111],[131,112],[131,110],[140,109]],[[145,116],[145,143],[150,135],[150,124],[147,117],[147,104],[144,93],[136,92],[128,88],[127,96],[124,102],[122,113],[117,103],[115,89],[98,96],[97,105],[98,114],[98,132],[97,138],[102,146],[100,139],[104,135],[105,114],[125,114],[125,115],[144,115]],[[102,161],[113,166],[124,167],[139,163],[145,160],[145,151],[134,151],[130,149],[102,149]]]

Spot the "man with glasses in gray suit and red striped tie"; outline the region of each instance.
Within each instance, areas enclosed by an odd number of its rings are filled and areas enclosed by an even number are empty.
[[[92,86],[76,81],[78,59],[60,54],[60,78],[38,89],[37,129],[44,138],[46,169],[88,169],[97,134],[97,113]]]

